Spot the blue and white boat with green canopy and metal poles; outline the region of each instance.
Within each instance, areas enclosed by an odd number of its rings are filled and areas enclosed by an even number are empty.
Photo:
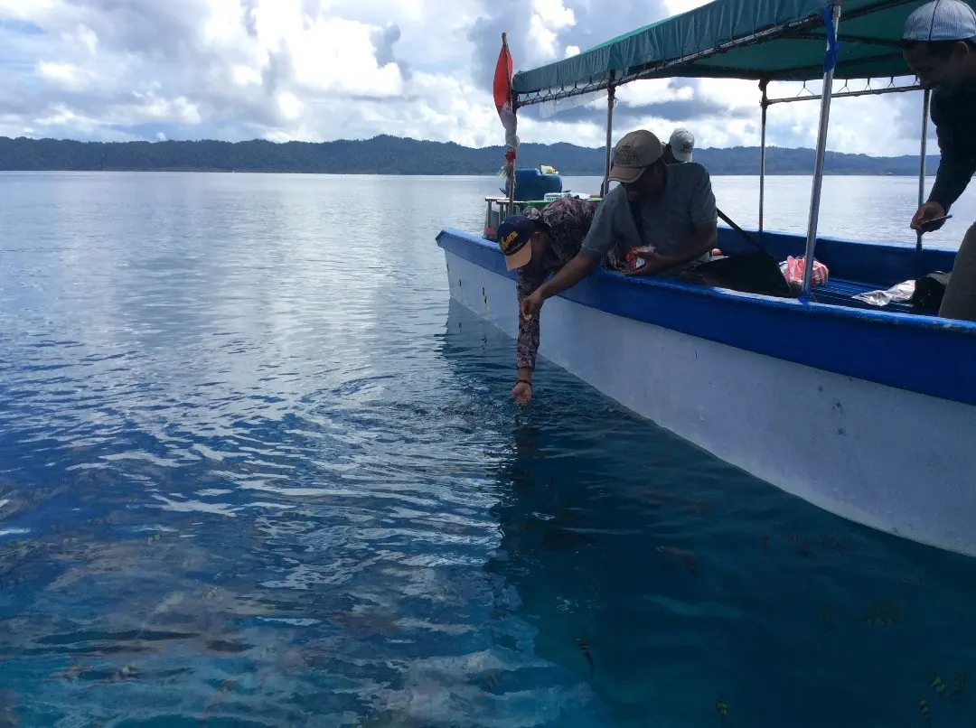
[[[956,253],[923,247],[920,236],[913,246],[817,233],[832,99],[921,92],[927,118],[928,92],[915,82],[895,81],[910,77],[899,40],[904,21],[921,4],[713,0],[573,58],[509,76],[510,108],[500,107],[500,114],[515,117],[518,108],[533,103],[559,106],[606,96],[605,194],[620,85],[669,77],[756,81],[759,220],[748,232],[777,261],[804,257],[799,296],[774,298],[599,268],[543,307],[539,353],[793,496],[888,534],[976,556],[976,323],[919,314],[909,303],[878,307],[856,298],[952,270]],[[835,78],[868,83],[862,91],[847,91],[845,83],[834,93]],[[816,79],[823,82],[817,94],[767,96],[771,82]],[[873,79],[887,83],[873,88]],[[767,230],[766,112],[774,103],[806,100],[820,102],[806,234]],[[510,168],[514,149],[508,145]],[[513,194],[487,203],[489,213],[494,205],[502,214],[528,204]],[[451,298],[515,336],[514,275],[497,244],[450,227],[440,231],[437,244]],[[754,250],[722,225],[718,247],[728,256]],[[814,260],[830,270],[826,285],[813,285]]]

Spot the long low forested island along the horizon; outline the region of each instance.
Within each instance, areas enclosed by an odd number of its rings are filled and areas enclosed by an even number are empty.
[[[769,147],[766,173],[809,175],[813,149]],[[755,175],[757,146],[696,149],[695,161],[712,175]],[[421,142],[382,135],[338,142],[75,142],[0,137],[0,171],[268,172],[333,175],[492,175],[503,148],[475,149],[454,142]],[[548,164],[563,176],[602,176],[603,149],[568,143],[525,143],[519,167]],[[927,161],[929,175],[939,164]],[[917,175],[918,157],[872,157],[828,152],[830,175]]]

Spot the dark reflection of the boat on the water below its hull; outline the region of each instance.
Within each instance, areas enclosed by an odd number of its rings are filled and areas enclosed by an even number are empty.
[[[470,356],[472,329],[493,334],[460,306],[449,327],[461,376],[462,335]],[[703,459],[545,366],[492,471],[500,639],[524,645],[511,626],[531,625],[535,655],[589,685],[614,725],[909,724],[926,696],[947,724],[976,714],[973,595],[946,581],[968,560]],[[946,619],[968,637],[943,639]]]

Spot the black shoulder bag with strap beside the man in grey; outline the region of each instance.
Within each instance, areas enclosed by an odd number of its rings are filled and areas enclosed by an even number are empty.
[[[637,226],[640,239],[644,240],[644,221],[640,215],[639,204],[635,200],[630,200],[630,215],[633,216],[633,222]],[[739,234],[746,237],[755,246],[756,251],[697,263],[688,270],[679,273],[677,280],[711,286],[712,288],[728,288],[740,293],[754,293],[784,299],[796,298],[799,287],[790,285],[786,276],[783,275],[783,271],[780,270],[780,264],[776,262],[776,259],[764,251],[745,230],[724,215],[721,217],[725,222],[729,222]],[[626,251],[616,250],[615,253],[620,260],[623,260],[623,256],[626,255]]]

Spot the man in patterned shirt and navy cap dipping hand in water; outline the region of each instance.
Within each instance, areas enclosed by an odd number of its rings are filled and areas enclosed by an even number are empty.
[[[508,270],[517,269],[515,293],[522,303],[549,274],[557,272],[580,252],[590,230],[595,203],[579,197],[553,200],[543,210],[530,207],[498,226],[498,243]],[[539,318],[518,317],[515,343],[517,376],[511,396],[520,404],[532,399],[532,372],[539,351]]]

